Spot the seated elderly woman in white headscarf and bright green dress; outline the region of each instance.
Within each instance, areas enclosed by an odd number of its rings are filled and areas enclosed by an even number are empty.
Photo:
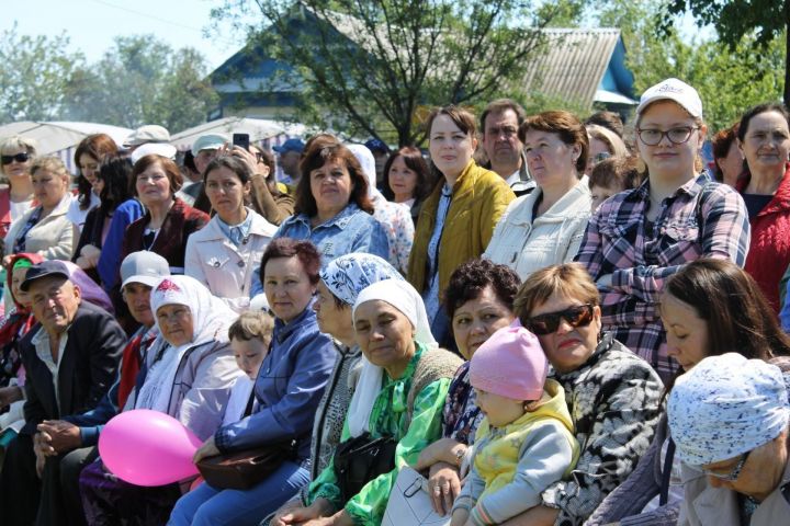
[[[346,416],[342,443],[332,465],[308,490],[304,506],[283,510],[273,525],[377,525],[398,470],[441,434],[441,411],[460,358],[439,350],[419,293],[386,279],[365,288],[353,307],[362,370]],[[358,459],[341,451],[349,444],[382,439],[371,480],[343,473]],[[346,458],[343,458],[346,457]],[[361,456],[360,456],[361,457]],[[353,468],[351,468],[353,470]]]

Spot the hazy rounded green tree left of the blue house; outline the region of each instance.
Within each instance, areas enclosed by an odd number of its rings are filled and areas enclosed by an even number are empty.
[[[153,35],[121,36],[70,85],[67,114],[135,128],[160,124],[179,132],[205,121],[217,96],[205,60],[192,48],[173,52]]]

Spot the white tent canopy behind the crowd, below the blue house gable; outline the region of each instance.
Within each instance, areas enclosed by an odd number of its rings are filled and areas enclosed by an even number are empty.
[[[200,136],[207,134],[226,135],[228,140],[233,134],[248,134],[250,142],[273,139],[275,137],[293,137],[304,135],[302,124],[290,124],[267,118],[225,117],[211,121],[170,136],[170,144],[180,151],[189,150]]]

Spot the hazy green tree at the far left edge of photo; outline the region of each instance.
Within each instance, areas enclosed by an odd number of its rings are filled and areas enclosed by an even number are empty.
[[[52,121],[60,115],[68,85],[82,75],[84,58],[70,53],[68,36],[0,33],[0,123]]]

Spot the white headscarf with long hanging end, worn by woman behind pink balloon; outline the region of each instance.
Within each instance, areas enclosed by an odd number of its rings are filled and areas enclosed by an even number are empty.
[[[170,347],[150,366],[145,384],[135,402],[136,409],[153,409],[168,413],[176,373],[184,353],[210,341],[227,342],[228,327],[238,317],[219,298],[213,296],[199,281],[190,276],[167,276],[151,291],[151,311],[161,333],[156,312],[165,305],[184,305],[192,313],[192,341]],[[154,351],[154,350],[151,350]]]

